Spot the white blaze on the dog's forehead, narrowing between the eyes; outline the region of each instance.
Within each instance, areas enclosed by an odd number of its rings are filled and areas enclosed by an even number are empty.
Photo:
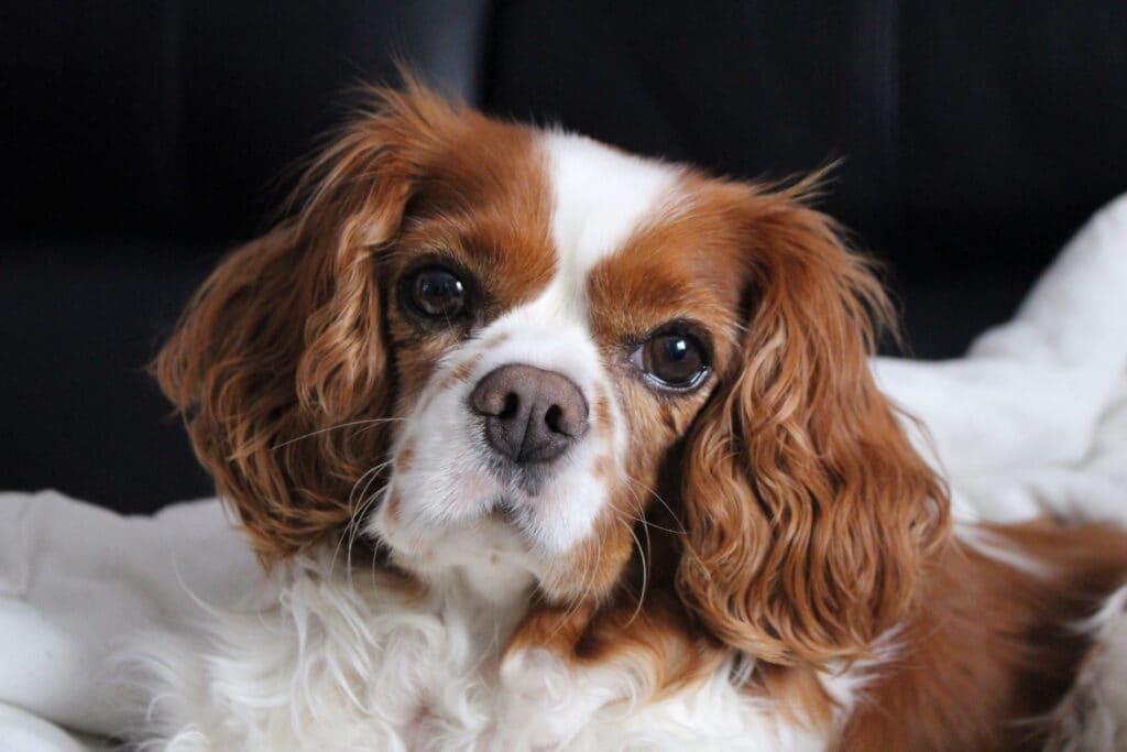
[[[545,298],[583,309],[587,274],[673,197],[680,171],[585,136],[542,136],[558,268]]]

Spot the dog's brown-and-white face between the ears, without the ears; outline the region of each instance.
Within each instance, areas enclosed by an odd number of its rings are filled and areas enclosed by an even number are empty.
[[[417,570],[499,540],[552,598],[601,594],[738,339],[726,207],[676,168],[479,127],[380,262],[399,422],[366,529]]]

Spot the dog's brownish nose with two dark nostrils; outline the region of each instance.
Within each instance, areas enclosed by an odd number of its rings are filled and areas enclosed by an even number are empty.
[[[490,371],[470,396],[489,444],[514,462],[553,460],[587,432],[587,400],[570,379],[514,363]]]

